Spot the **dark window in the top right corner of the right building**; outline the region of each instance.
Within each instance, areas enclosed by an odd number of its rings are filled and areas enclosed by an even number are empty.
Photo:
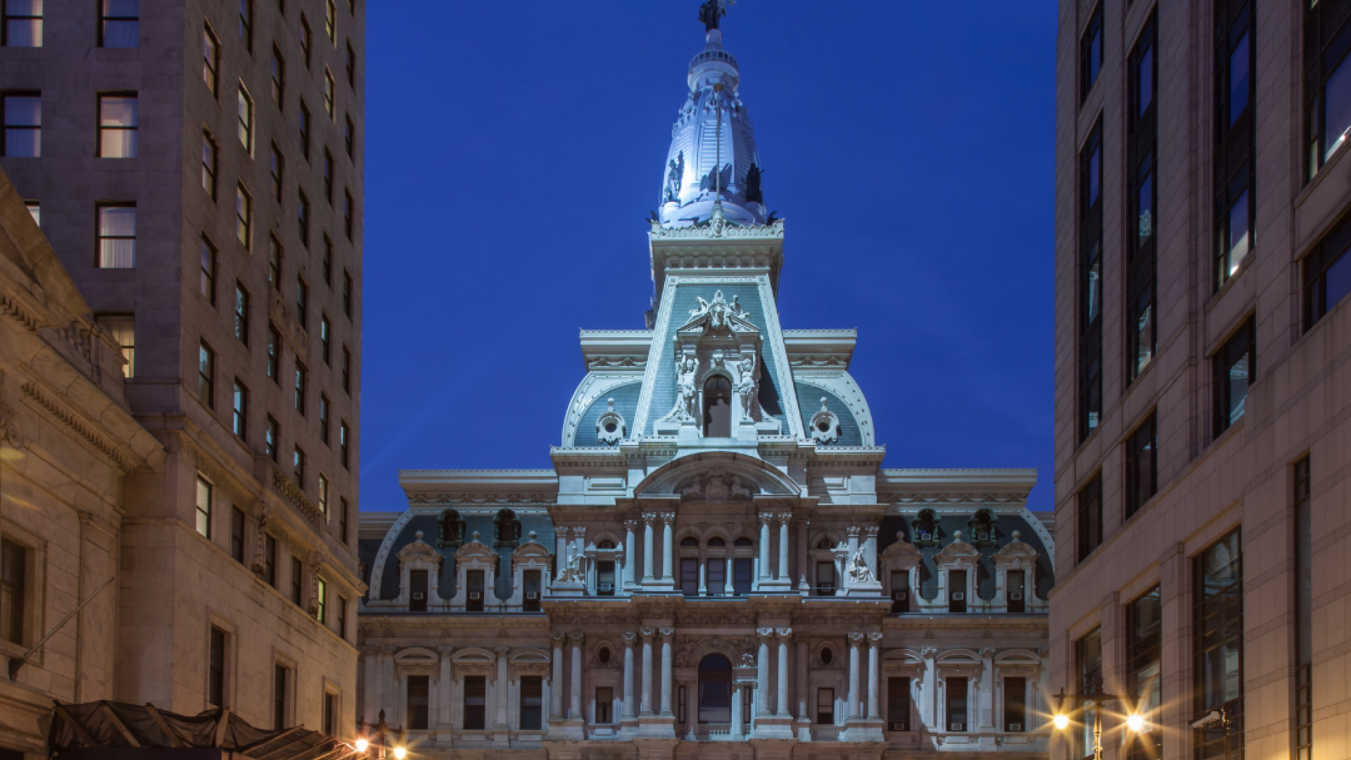
[[[1343,3],[1302,5],[1305,164],[1312,179],[1351,130],[1351,14]]]

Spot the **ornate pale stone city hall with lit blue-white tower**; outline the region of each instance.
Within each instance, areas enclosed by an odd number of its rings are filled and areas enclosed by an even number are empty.
[[[716,22],[647,329],[582,330],[554,467],[403,471],[407,510],[362,514],[358,719],[419,759],[1046,757],[1035,471],[884,469],[855,331],[780,325]]]

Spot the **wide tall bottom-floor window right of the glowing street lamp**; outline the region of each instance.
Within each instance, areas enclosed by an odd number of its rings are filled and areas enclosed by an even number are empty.
[[[1193,714],[1221,719],[1192,729],[1197,760],[1243,757],[1243,559],[1233,530],[1193,560]]]

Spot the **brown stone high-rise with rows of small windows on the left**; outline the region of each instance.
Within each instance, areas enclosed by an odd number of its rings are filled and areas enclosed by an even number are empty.
[[[350,733],[363,5],[3,3],[0,165],[166,453],[91,529],[111,680],[35,688]]]

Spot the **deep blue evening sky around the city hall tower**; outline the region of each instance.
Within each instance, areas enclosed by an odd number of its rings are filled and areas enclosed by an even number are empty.
[[[542,468],[578,327],[640,329],[698,0],[372,3],[361,507]],[[1051,508],[1051,0],[739,0],[786,329],[857,327],[886,467],[1036,467]]]

